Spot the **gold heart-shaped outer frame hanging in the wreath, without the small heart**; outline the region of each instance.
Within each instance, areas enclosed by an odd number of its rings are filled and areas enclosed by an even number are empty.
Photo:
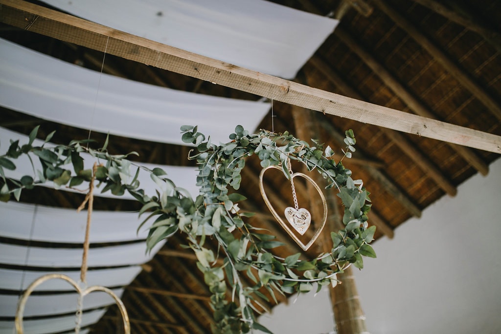
[[[270,203],[270,200],[268,199],[268,196],[266,195],[265,193],[265,186],[263,184],[263,175],[265,174],[265,172],[270,169],[270,168],[275,168],[275,169],[278,169],[278,170],[281,170],[281,171],[284,171],[282,169],[282,167],[279,167],[279,166],[268,166],[266,168],[263,168],[261,170],[261,173],[259,174],[259,189],[261,190],[261,195],[263,196],[263,199],[265,200],[265,203],[266,203],[266,206],[268,206],[268,209],[270,210],[270,212],[272,213],[272,215],[275,217],[275,219],[277,219],[277,221],[280,223],[280,225],[282,225],[282,227],[286,230],[286,232],[291,236],[291,238],[293,238],[294,241],[296,241],[296,243],[303,249],[303,250],[308,250],[308,248],[311,247],[311,245],[317,240],[317,238],[319,237],[320,233],[322,232],[322,230],[324,229],[324,226],[325,226],[325,223],[327,221],[327,202],[325,200],[325,196],[324,194],[322,193],[322,189],[320,189],[320,187],[318,186],[318,184],[315,183],[315,181],[309,177],[308,175],[306,174],[303,174],[303,173],[294,173],[291,175],[291,178],[294,179],[296,176],[300,176],[300,177],[303,177],[305,178],[306,180],[308,180],[314,187],[315,189],[318,191],[318,193],[320,194],[320,197],[322,198],[322,203],[324,205],[324,217],[322,219],[322,224],[320,227],[317,228],[317,230],[315,231],[315,233],[313,234],[312,238],[310,239],[310,241],[308,241],[306,244],[304,244],[296,234],[294,234],[294,231],[289,227],[289,225],[287,225],[284,220],[282,219],[281,216],[279,216],[279,214],[277,213],[277,211],[275,210],[275,208],[273,207],[272,203]]]

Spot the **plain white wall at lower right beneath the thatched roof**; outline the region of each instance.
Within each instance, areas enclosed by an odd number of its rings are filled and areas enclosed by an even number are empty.
[[[373,334],[501,332],[501,159],[475,175],[354,270]],[[376,199],[377,200],[377,199]],[[333,332],[327,290],[300,296],[260,318],[275,334]]]

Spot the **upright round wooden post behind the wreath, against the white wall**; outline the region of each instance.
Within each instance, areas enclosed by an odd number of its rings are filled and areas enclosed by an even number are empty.
[[[296,124],[296,136],[306,140],[307,138],[316,138],[319,129],[315,122],[315,118],[304,108],[293,107],[292,115],[294,123]],[[322,185],[325,180],[319,173],[312,173],[310,175],[314,181]],[[313,217],[321,217],[323,215],[323,205],[315,188],[308,183],[308,195],[311,199],[311,211]],[[327,207],[329,214],[324,231],[321,234],[318,247],[323,252],[330,252],[332,247],[332,240],[330,231],[337,231],[344,227],[341,215],[338,209],[338,198],[335,191],[329,191],[326,194]],[[355,284],[355,277],[352,274],[351,267],[346,269],[344,273],[338,274],[338,279],[342,282],[336,287],[329,287],[332,308],[334,311],[334,319],[336,322],[337,332],[340,334],[359,334],[367,332],[365,325],[365,315],[360,305],[360,298],[358,296],[357,287]]]

